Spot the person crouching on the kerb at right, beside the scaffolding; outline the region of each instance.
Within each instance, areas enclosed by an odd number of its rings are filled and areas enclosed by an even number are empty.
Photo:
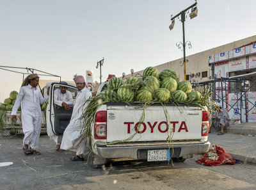
[[[222,109],[222,105],[217,103],[216,111],[212,115],[212,126],[219,131],[218,135],[224,134],[224,127],[229,126],[229,122],[227,110]]]

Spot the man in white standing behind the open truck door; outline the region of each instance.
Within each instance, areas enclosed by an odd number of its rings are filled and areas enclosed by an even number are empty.
[[[67,85],[68,83],[61,81],[60,84]],[[66,110],[70,109],[69,106],[73,105],[73,98],[67,87],[60,86],[59,89],[54,90],[54,104],[57,105],[58,109],[65,107]],[[56,142],[56,151],[64,151],[60,148],[62,136],[51,136],[50,139]]]

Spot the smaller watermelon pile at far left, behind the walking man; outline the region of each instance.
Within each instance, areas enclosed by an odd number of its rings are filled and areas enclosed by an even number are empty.
[[[0,111],[12,111],[12,108],[15,104],[15,100],[18,97],[18,92],[17,91],[11,91],[10,92],[10,97],[7,99],[4,99],[4,103],[0,103]],[[48,100],[47,100],[48,102]],[[47,104],[44,103],[41,107],[42,111],[46,109]],[[21,111],[21,107],[19,107],[18,111]]]

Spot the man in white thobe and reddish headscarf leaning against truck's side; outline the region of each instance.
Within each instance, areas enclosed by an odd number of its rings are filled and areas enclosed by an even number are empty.
[[[83,125],[81,116],[86,106],[88,106],[88,102],[86,104],[85,102],[92,97],[92,93],[86,88],[83,76],[76,76],[74,81],[78,92],[70,123],[63,134],[61,149],[76,152],[76,155],[71,158],[71,161],[84,161],[83,154],[85,152],[85,141],[84,135],[80,134],[81,125]]]

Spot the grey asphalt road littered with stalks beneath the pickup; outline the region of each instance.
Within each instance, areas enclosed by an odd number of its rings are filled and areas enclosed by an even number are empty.
[[[116,160],[100,169],[72,162],[74,152],[56,152],[53,141],[40,136],[41,155],[24,155],[22,136],[0,139],[0,189],[256,189],[256,166],[198,165],[185,162]]]

